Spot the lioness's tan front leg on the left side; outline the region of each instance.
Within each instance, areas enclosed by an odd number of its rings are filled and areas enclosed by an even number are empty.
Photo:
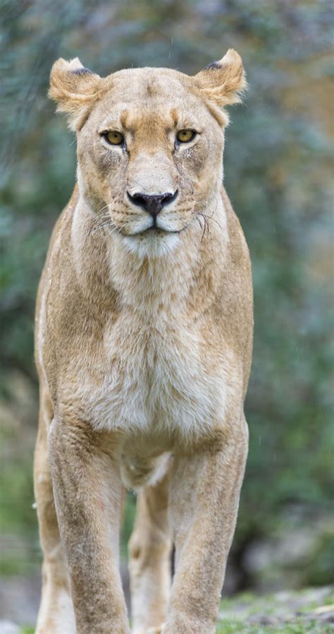
[[[51,424],[51,475],[77,634],[130,632],[118,572],[122,485],[111,455],[106,438],[87,423]]]

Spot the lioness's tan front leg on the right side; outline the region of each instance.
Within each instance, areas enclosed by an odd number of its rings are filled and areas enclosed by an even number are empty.
[[[214,634],[245,471],[245,418],[225,438],[177,455],[171,474],[175,578],[163,634]]]

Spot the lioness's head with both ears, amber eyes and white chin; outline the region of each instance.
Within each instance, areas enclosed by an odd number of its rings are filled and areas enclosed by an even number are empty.
[[[78,137],[78,181],[93,214],[132,251],[173,249],[205,213],[222,180],[223,108],[240,100],[245,73],[230,49],[195,76],[132,68],[106,78],[58,59],[49,95]]]

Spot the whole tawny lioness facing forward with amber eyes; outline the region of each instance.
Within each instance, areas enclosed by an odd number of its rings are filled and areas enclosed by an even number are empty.
[[[50,96],[78,139],[78,185],[37,299],[38,634],[213,634],[247,456],[249,253],[223,189],[233,49],[190,77],[101,78],[59,59]],[[175,576],[171,587],[171,545]]]

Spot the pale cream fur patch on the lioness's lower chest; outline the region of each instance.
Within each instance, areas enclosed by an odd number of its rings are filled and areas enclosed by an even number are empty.
[[[101,358],[103,363],[101,364]],[[200,436],[223,414],[228,382],[198,328],[131,313],[106,326],[100,380],[80,400],[96,429]]]

